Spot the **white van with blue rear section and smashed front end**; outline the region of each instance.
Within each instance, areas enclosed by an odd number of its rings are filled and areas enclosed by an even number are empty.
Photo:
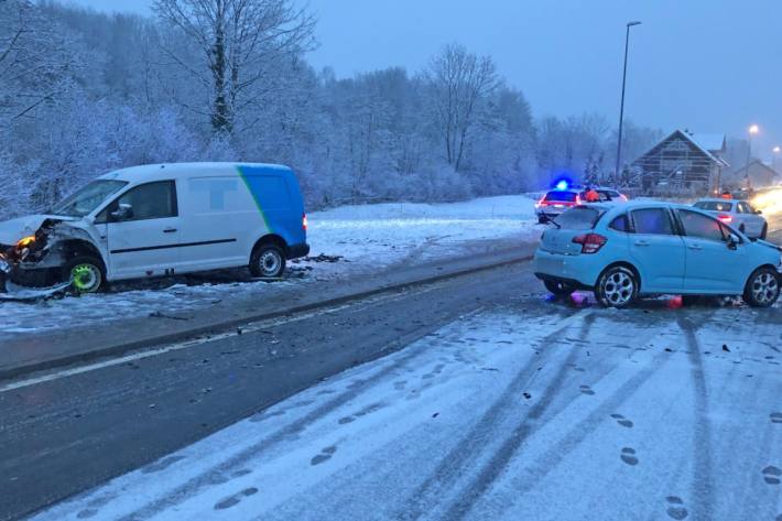
[[[83,293],[105,281],[245,265],[279,278],[286,259],[309,252],[293,171],[245,163],[111,172],[47,215],[1,222],[0,245],[11,280],[72,280]]]

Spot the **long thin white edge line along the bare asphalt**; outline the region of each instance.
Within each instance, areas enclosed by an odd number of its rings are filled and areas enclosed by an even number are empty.
[[[261,321],[261,322],[257,322],[257,323],[250,323],[247,326],[240,326],[237,329],[240,329],[242,335],[258,333],[263,329],[270,329],[273,327],[284,326],[286,324],[292,324],[295,322],[301,322],[301,321],[314,318],[314,317],[322,316],[322,315],[329,315],[329,314],[337,313],[337,312],[340,312],[340,311],[344,311],[344,310],[347,310],[350,307],[357,307],[358,305],[370,306],[370,305],[376,305],[376,304],[383,304],[383,303],[391,302],[394,300],[405,299],[405,297],[410,296],[411,294],[420,295],[422,293],[428,293],[428,292],[432,292],[434,290],[442,287],[443,285],[444,285],[444,283],[435,283],[428,287],[423,287],[423,289],[416,287],[411,291],[404,291],[402,294],[393,293],[393,294],[378,295],[378,296],[373,296],[373,297],[369,297],[369,299],[365,299],[365,300],[360,300],[360,301],[354,301],[354,302],[340,304],[337,306],[324,307],[321,310],[304,312],[304,313],[296,314],[296,315],[285,316],[285,317],[281,317],[281,318],[271,318],[271,319]],[[122,356],[119,358],[112,358],[110,360],[105,360],[101,362],[95,362],[95,363],[89,363],[86,366],[73,367],[70,369],[63,369],[63,370],[59,370],[56,372],[42,375],[40,377],[29,378],[25,380],[20,380],[20,381],[12,382],[12,383],[7,383],[3,386],[0,386],[0,393],[8,392],[8,391],[15,391],[15,390],[24,389],[24,388],[32,387],[32,386],[37,386],[39,383],[51,382],[54,380],[61,380],[63,378],[68,378],[68,377],[73,377],[76,375],[83,375],[85,372],[91,372],[91,371],[96,371],[98,369],[105,369],[107,367],[120,366],[122,363],[127,363],[127,362],[131,362],[131,361],[135,361],[135,360],[143,360],[144,358],[156,357],[159,355],[165,355],[166,352],[189,349],[192,347],[200,346],[203,344],[208,344],[211,341],[219,341],[219,340],[225,340],[227,338],[233,338],[239,335],[237,329],[233,329],[233,330],[227,332],[227,333],[211,335],[208,337],[193,338],[189,340],[177,341],[177,343],[170,344],[165,347],[160,347],[156,349],[148,349],[144,351],[134,352],[131,355],[126,355],[126,356]]]

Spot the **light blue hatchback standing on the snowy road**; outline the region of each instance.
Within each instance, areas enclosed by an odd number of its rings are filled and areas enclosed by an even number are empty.
[[[556,295],[594,291],[606,306],[640,295],[741,295],[776,302],[782,250],[692,206],[632,202],[576,206],[551,222],[534,272]]]

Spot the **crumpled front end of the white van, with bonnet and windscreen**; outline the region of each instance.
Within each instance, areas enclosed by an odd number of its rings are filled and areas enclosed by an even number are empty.
[[[96,180],[46,214],[0,222],[0,291],[33,287],[45,294],[69,285],[97,291],[106,264],[91,214],[127,184]]]

